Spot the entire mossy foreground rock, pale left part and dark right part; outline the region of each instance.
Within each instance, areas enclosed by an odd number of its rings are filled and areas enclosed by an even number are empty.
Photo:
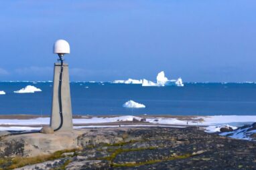
[[[72,135],[7,135],[0,141],[0,169],[256,169],[255,156],[253,141],[196,127],[79,129]]]

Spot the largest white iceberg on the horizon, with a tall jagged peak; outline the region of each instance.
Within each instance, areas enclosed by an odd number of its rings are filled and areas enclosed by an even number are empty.
[[[125,84],[141,84],[143,87],[146,86],[171,86],[176,85],[178,87],[184,87],[184,84],[182,83],[182,79],[178,78],[177,80],[169,80],[166,75],[164,74],[164,71],[161,71],[157,74],[156,77],[156,83],[153,81],[149,81],[147,79],[127,79],[127,80],[115,80],[113,83],[125,83]]]

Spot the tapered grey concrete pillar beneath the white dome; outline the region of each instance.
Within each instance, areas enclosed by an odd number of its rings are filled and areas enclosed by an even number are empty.
[[[59,83],[60,83],[60,63],[54,64],[54,86],[52,93],[52,115],[50,126],[57,129],[60,125],[60,107],[59,107]],[[68,75],[68,64],[63,63],[62,73],[62,115],[63,125],[58,131],[71,131],[73,129],[72,123],[72,108],[70,98],[70,83]]]

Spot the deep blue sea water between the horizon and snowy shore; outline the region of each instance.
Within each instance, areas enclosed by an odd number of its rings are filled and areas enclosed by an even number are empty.
[[[26,85],[36,93],[13,93]],[[184,87],[71,82],[75,115],[256,115],[255,83],[185,83]],[[0,82],[0,114],[50,115],[52,82]],[[141,109],[122,105],[133,100]]]

